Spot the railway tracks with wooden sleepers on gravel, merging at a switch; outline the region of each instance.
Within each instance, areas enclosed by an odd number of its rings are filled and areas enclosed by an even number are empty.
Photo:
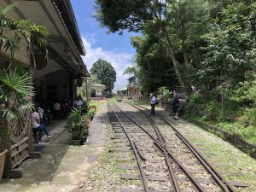
[[[171,137],[163,136],[155,121],[172,125],[160,114],[153,120],[145,108],[132,108],[108,105],[116,143],[111,151],[123,161],[118,168],[128,172],[121,177],[142,183],[122,192],[236,191],[174,127]]]

